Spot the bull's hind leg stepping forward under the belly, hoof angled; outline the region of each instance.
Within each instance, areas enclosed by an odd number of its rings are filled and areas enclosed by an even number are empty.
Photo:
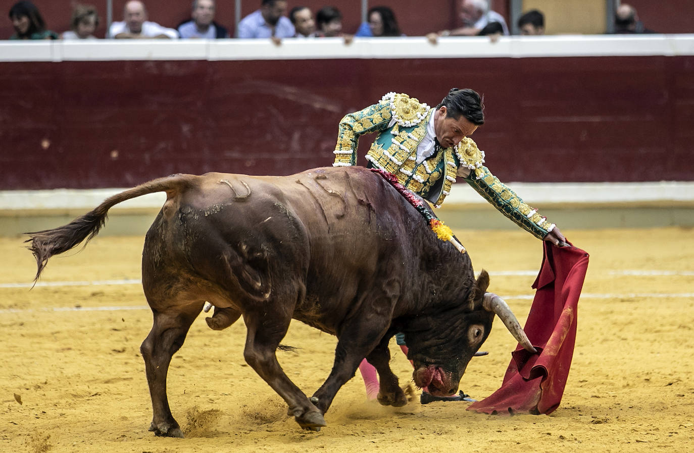
[[[265,305],[262,311],[244,312],[244,322],[248,328],[244,358],[287,402],[287,415],[294,416],[296,423],[303,429],[318,431],[325,426],[323,414],[312,405],[301,389],[289,380],[277,361],[275,352],[287,334],[291,315],[285,308],[279,308],[279,305],[273,307],[278,310],[272,310]]]

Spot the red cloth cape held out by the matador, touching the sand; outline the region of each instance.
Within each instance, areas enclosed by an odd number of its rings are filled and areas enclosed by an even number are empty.
[[[542,268],[532,287],[535,298],[525,333],[538,353],[518,346],[511,353],[501,388],[468,410],[486,414],[550,414],[559,407],[576,341],[578,299],[588,254],[544,242]]]

